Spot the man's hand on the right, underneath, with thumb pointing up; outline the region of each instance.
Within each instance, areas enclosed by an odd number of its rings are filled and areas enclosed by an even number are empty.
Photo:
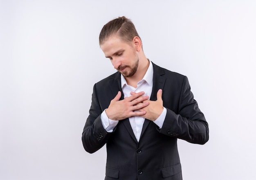
[[[133,95],[135,92],[131,92]],[[162,89],[159,89],[157,91],[157,100],[156,101],[150,101],[146,100],[143,103],[148,102],[149,105],[141,108],[139,111],[146,111],[146,114],[141,115],[145,119],[148,119],[150,121],[155,121],[163,112],[164,107],[163,107],[163,100],[162,100]]]

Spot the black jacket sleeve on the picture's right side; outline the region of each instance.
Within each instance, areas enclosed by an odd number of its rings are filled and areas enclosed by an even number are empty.
[[[204,114],[198,108],[190,90],[189,81],[184,76],[178,112],[167,109],[164,124],[159,131],[167,136],[186,140],[190,143],[205,144],[209,140],[209,127]]]

